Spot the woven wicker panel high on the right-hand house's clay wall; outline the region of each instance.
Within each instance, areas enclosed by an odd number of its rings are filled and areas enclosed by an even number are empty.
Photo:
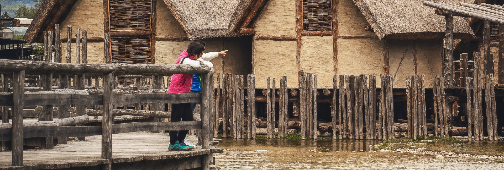
[[[303,1],[303,31],[331,31],[331,0]]]

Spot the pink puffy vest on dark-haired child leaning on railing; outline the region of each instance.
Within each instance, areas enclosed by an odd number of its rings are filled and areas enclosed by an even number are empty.
[[[183,51],[180,53],[177,59],[176,64],[180,64],[180,60],[187,56],[187,51]],[[194,56],[188,56],[186,59],[194,59]],[[193,83],[193,74],[173,74],[171,76],[170,87],[168,88],[168,92],[170,94],[179,94],[179,93],[189,93],[191,91],[191,84]]]

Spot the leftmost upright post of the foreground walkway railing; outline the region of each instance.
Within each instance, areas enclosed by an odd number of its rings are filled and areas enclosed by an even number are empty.
[[[14,72],[12,96],[12,166],[23,165],[23,108],[25,70]]]

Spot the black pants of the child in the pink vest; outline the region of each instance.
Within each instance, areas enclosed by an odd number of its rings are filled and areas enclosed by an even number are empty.
[[[171,104],[171,121],[170,122],[189,122],[193,121],[193,109],[191,103]],[[176,141],[182,143],[188,130],[170,130],[170,144],[175,144]]]

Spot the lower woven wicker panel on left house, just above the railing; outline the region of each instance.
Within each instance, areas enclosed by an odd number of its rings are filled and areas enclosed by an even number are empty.
[[[110,48],[112,53],[112,63],[152,63],[151,41],[149,37],[111,38]],[[122,82],[122,79],[118,79],[119,86],[122,86]],[[127,83],[128,86],[134,86],[135,79],[128,78]]]

